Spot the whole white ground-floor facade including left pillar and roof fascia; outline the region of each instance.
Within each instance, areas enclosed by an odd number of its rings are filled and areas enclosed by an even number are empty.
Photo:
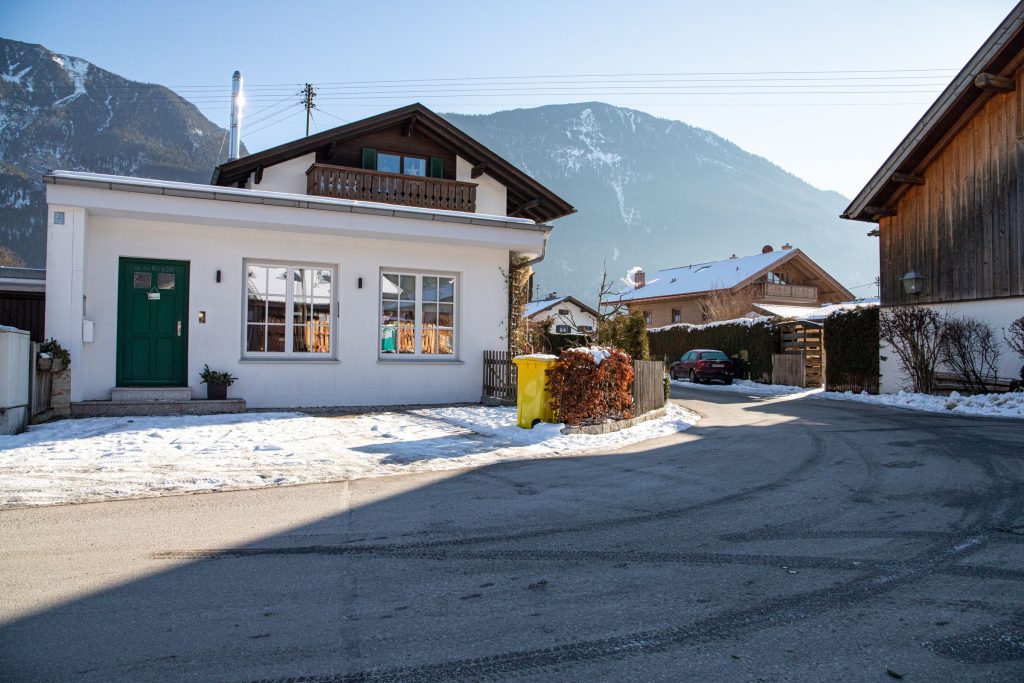
[[[71,350],[74,401],[109,399],[115,387],[123,256],[189,263],[194,397],[205,397],[199,372],[209,364],[238,376],[228,395],[254,408],[476,401],[482,351],[506,346],[509,251],[536,255],[544,242],[532,224],[471,224],[390,208],[371,215],[59,184],[47,185],[47,197],[50,222],[62,210],[67,224],[48,230],[46,334]],[[243,358],[247,258],[336,268],[336,359]],[[457,275],[454,362],[378,358],[381,268]],[[91,343],[83,341],[83,319],[94,323]]]

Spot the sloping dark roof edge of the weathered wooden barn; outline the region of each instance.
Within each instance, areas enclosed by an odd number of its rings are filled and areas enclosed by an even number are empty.
[[[878,222],[880,210],[891,207],[906,187],[893,174],[920,175],[932,157],[992,96],[992,90],[975,85],[975,79],[981,74],[1013,77],[1022,56],[1024,2],[999,24],[840,217]]]

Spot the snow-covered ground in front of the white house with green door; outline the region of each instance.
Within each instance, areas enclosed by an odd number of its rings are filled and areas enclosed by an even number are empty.
[[[515,426],[514,408],[346,417],[302,413],[91,418],[0,436],[0,508],[257,488],[597,453],[688,429],[666,417],[610,434]]]

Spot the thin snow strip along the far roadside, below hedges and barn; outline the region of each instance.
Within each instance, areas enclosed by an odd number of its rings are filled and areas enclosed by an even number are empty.
[[[685,384],[693,389],[742,393],[756,396],[786,395],[795,398],[812,396],[817,398],[831,398],[834,400],[853,400],[861,403],[872,403],[874,405],[906,408],[913,411],[926,411],[928,413],[954,413],[956,415],[1024,419],[1024,392],[1020,391],[978,396],[963,396],[955,391],[948,396],[931,396],[909,391],[872,395],[850,391],[840,393],[837,391],[823,391],[821,389],[801,389],[800,387],[782,384],[758,384],[748,380],[734,380],[731,385],[690,384],[681,380],[674,380],[673,384]]]

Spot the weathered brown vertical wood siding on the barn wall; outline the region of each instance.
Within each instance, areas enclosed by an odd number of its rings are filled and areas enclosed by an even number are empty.
[[[1018,96],[991,97],[880,220],[883,305],[1024,296],[1024,140]],[[903,293],[916,270],[924,292]]]

